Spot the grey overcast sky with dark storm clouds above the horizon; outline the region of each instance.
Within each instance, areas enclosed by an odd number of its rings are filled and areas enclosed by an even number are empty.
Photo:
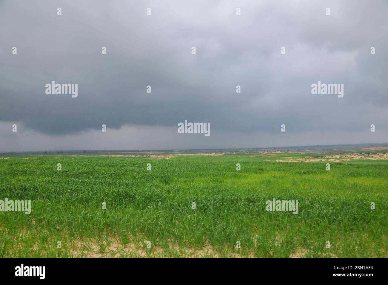
[[[388,142],[387,14],[386,0],[0,1],[0,151]],[[52,81],[78,97],[47,95]],[[318,81],[343,98],[311,94]],[[210,136],[178,133],[184,120]]]

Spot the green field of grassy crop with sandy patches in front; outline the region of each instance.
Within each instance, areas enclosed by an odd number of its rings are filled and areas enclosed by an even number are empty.
[[[386,160],[6,157],[0,200],[32,206],[0,212],[0,257],[388,257]],[[298,213],[267,211],[272,198]]]

